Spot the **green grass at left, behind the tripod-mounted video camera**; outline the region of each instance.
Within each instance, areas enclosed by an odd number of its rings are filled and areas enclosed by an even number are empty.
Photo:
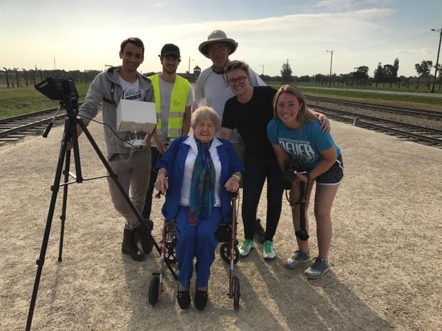
[[[83,101],[89,84],[77,84],[76,87],[79,101]],[[58,101],[48,99],[34,87],[0,88],[0,119],[58,106]]]

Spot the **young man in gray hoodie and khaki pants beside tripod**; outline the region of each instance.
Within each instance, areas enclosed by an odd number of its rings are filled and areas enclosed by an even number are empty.
[[[79,109],[79,116],[88,124],[97,115],[102,103],[103,121],[115,132],[116,110],[120,99],[155,101],[151,81],[137,72],[144,60],[144,44],[141,39],[131,37],[124,40],[119,58],[122,59],[122,66],[111,67],[98,74],[90,84],[86,99]],[[130,190],[131,201],[141,214],[151,172],[150,136],[144,139],[144,150],[131,150],[123,142],[129,138],[130,132],[117,132],[121,138],[118,139],[108,126],[104,126],[108,162],[127,194]],[[78,134],[81,134],[81,130]],[[129,254],[135,261],[142,261],[145,254],[151,252],[153,243],[110,177],[108,186],[115,209],[126,219],[122,252]],[[148,228],[151,230],[152,224],[148,224]]]

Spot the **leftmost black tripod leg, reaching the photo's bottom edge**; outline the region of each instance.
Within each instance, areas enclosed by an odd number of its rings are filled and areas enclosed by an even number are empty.
[[[37,259],[37,274],[35,275],[34,289],[32,290],[32,297],[30,299],[28,321],[26,322],[26,331],[30,330],[30,325],[32,323],[32,317],[34,315],[35,301],[37,301],[37,292],[39,290],[39,283],[41,277],[41,271],[43,270],[44,259],[46,257],[46,248],[48,248],[50,227],[52,225],[52,217],[54,216],[55,203],[57,201],[57,194],[60,187],[61,171],[63,170],[64,157],[66,155],[66,144],[70,140],[70,130],[69,126],[72,125],[72,119],[68,118],[65,122],[65,130],[63,135],[63,140],[61,143],[61,148],[59,152],[57,170],[55,171],[54,184],[50,188],[52,190],[52,196],[50,198],[50,205],[48,211],[48,219],[46,219],[46,228],[44,230],[43,242],[41,243],[41,250],[39,259]]]

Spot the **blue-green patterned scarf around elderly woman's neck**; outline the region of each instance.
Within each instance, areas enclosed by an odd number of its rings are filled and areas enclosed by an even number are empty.
[[[212,140],[213,141],[213,140]],[[195,138],[198,154],[193,165],[191,199],[189,205],[189,225],[197,225],[199,217],[209,217],[215,205],[215,165],[208,146]]]

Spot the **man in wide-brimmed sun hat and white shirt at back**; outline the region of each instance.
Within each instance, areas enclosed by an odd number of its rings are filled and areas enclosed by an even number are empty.
[[[204,57],[211,59],[212,66],[203,70],[196,81],[195,104],[196,106],[210,106],[213,108],[220,115],[220,123],[222,123],[224,104],[235,96],[227,82],[224,67],[229,63],[229,55],[233,54],[236,48],[238,48],[238,42],[228,38],[222,30],[213,30],[207,40],[203,41],[198,47]],[[249,69],[249,77],[252,86],[266,85],[258,74],[251,69]],[[244,160],[244,142],[240,135],[233,132],[230,141],[240,159]],[[265,239],[265,232],[260,225],[260,220],[257,219],[256,222],[255,237],[262,243]]]

